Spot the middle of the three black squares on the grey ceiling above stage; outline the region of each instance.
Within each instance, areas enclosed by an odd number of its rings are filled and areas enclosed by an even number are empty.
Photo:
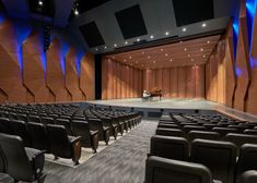
[[[125,39],[148,34],[139,4],[116,12],[115,16]]]

